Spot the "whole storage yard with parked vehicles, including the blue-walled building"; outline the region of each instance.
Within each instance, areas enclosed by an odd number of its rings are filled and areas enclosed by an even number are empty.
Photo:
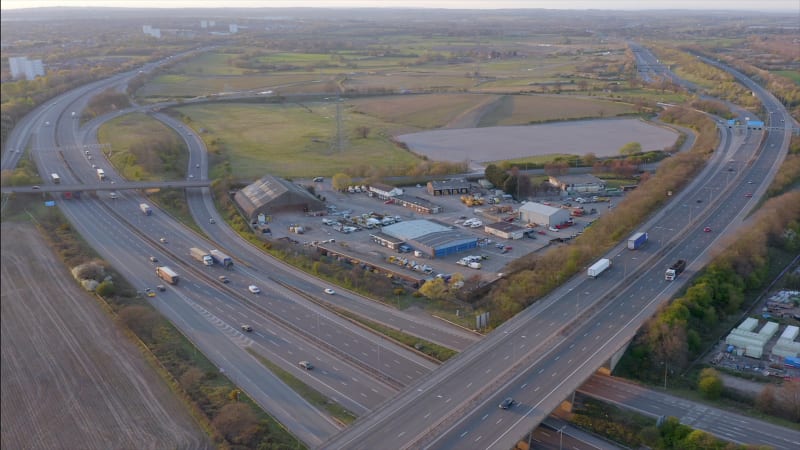
[[[471,198],[486,201],[465,202],[460,191],[432,195],[421,185],[405,187],[401,196],[391,198],[376,192],[370,195],[366,186],[337,192],[325,180],[314,183],[316,192],[326,198],[324,215],[282,212],[270,217],[264,227],[269,228],[271,239],[317,246],[377,269],[406,274],[417,282],[455,272],[465,279],[488,282],[502,276],[503,267],[522,255],[566,245],[612,206],[612,202],[589,200],[591,204],[580,205],[585,214],[574,214],[576,207],[554,196],[540,199],[551,206],[523,204],[494,195],[478,183],[467,185]],[[529,225],[528,220],[539,219],[526,216],[523,210],[520,220],[519,211],[525,205],[542,205],[561,220]],[[471,262],[476,263],[479,259],[480,264],[460,264],[465,257],[474,257]]]

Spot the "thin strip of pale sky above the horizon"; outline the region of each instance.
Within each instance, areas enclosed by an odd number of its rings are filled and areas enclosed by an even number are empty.
[[[2,0],[0,8],[107,6],[130,8],[392,7],[454,9],[718,9],[787,11],[800,14],[800,0]]]

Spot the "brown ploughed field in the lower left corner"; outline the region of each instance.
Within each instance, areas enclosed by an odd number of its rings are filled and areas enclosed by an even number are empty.
[[[2,224],[4,449],[211,449],[29,224]]]

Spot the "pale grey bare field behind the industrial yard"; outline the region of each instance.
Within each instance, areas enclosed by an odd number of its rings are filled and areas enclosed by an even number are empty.
[[[642,149],[663,150],[678,133],[639,119],[606,119],[516,127],[422,131],[397,136],[415,153],[434,161],[491,162],[529,156],[569,153],[619,155],[629,142]]]

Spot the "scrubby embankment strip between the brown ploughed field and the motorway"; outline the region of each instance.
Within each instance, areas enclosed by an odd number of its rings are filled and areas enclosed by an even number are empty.
[[[186,401],[187,406],[220,448],[302,449],[303,444],[267,415],[224,376],[171,322],[154,309],[94,250],[56,208],[32,201],[38,196],[16,196],[3,211],[3,220],[26,216],[34,220],[42,236],[62,262],[73,268],[95,261],[112,280],[105,284],[103,307],[135,336],[148,361]],[[102,280],[97,280],[102,281]],[[100,298],[100,297],[98,297]],[[231,417],[236,417],[232,421]]]

